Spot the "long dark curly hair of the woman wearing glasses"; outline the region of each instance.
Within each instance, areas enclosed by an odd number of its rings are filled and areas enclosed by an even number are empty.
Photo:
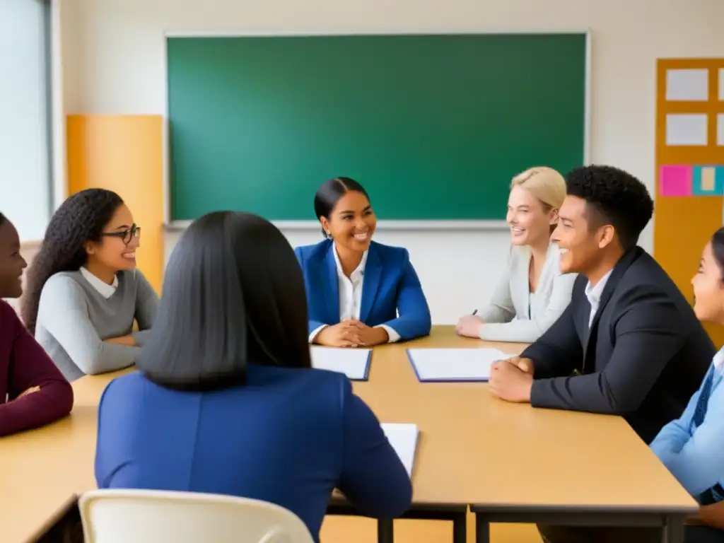
[[[20,314],[31,334],[41,292],[48,279],[59,271],[75,271],[85,264],[85,243],[101,239],[106,224],[123,205],[111,190],[88,188],[67,198],[55,211],[46,228],[43,243],[28,268],[28,283],[20,299]]]

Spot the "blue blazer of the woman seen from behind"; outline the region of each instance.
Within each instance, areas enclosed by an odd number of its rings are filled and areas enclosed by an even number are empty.
[[[370,408],[343,374],[250,365],[243,386],[169,390],[135,372],[98,407],[98,488],[230,494],[298,515],[315,539],[332,490],[393,518],[412,485]]]

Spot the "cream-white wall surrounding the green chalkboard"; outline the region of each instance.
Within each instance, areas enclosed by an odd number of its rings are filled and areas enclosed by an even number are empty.
[[[69,113],[164,113],[164,31],[590,28],[592,161],[628,169],[652,191],[657,57],[724,56],[722,0],[63,2],[64,101]],[[286,233],[293,245],[319,240],[316,232]],[[487,300],[502,273],[508,234],[381,231],[376,239],[409,248],[434,321],[448,323]],[[176,235],[168,235],[169,250],[175,240]],[[651,250],[651,225],[641,245]]]

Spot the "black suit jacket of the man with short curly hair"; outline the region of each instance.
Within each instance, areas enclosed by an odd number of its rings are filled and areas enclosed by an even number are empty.
[[[621,415],[649,443],[681,416],[715,346],[643,249],[628,251],[613,268],[590,332],[587,282],[576,279],[568,308],[521,355],[534,361],[531,405]]]

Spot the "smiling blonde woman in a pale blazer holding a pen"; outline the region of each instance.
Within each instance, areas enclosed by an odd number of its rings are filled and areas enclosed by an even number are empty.
[[[460,318],[456,331],[482,340],[533,342],[571,301],[576,274],[561,274],[550,236],[565,198],[555,169],[535,167],[513,177],[508,197],[511,248],[505,277],[489,305]]]

